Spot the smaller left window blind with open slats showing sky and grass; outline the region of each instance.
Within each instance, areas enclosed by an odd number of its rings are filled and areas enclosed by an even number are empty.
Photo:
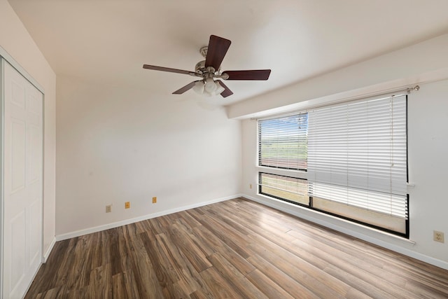
[[[258,120],[258,165],[307,169],[307,113]]]

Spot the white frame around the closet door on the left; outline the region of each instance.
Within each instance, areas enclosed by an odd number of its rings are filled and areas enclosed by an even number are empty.
[[[5,64],[10,64],[16,69],[31,85],[34,85],[42,93],[42,202],[41,202],[41,264],[45,262],[43,251],[43,206],[44,206],[44,169],[45,169],[45,90],[34,78],[23,68],[14,58],[0,46],[0,298],[3,295],[3,230],[4,230],[4,186],[3,186],[3,128],[4,128],[4,105],[5,105],[5,88],[3,83],[3,71]],[[31,281],[30,281],[31,284]]]

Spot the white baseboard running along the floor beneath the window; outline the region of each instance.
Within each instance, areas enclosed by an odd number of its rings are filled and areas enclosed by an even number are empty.
[[[400,246],[400,245],[397,245],[397,244],[392,244],[391,242],[387,242],[387,241],[385,241],[383,239],[378,239],[378,238],[372,237],[370,235],[365,235],[365,234],[363,234],[363,232],[356,231],[354,228],[359,227],[359,225],[357,225],[356,223],[351,223],[353,225],[353,230],[351,230],[349,228],[344,228],[344,227],[342,227],[340,225],[337,225],[335,223],[330,223],[330,221],[324,221],[321,218],[317,218],[317,217],[313,217],[313,216],[310,216],[310,215],[307,215],[307,214],[304,214],[304,213],[300,213],[300,211],[298,209],[295,209],[295,210],[288,209],[287,205],[279,204],[279,203],[276,202],[276,200],[270,200],[268,198],[260,199],[258,197],[252,197],[250,195],[245,195],[245,194],[243,194],[241,196],[244,197],[244,198],[247,198],[248,200],[253,200],[254,202],[258,202],[258,203],[264,204],[264,205],[266,205],[268,207],[272,207],[274,209],[278,209],[280,211],[284,211],[285,213],[297,216],[299,218],[303,218],[303,219],[305,219],[307,221],[311,221],[311,222],[317,223],[319,225],[323,225],[323,226],[325,226],[327,228],[331,228],[332,230],[337,230],[338,232],[343,232],[346,235],[351,235],[352,237],[356,237],[358,239],[362,239],[365,242],[369,242],[369,243],[372,243],[372,244],[384,247],[386,249],[390,249],[392,251],[404,254],[405,256],[409,256],[411,258],[415,258],[416,260],[421,260],[421,261],[423,261],[425,263],[428,263],[430,265],[435,265],[436,267],[441,267],[442,269],[448,270],[448,262],[447,261],[440,260],[438,258],[433,258],[431,256],[426,256],[426,254],[419,253],[419,252],[413,251],[412,249],[405,248],[405,245],[415,244],[415,242],[413,242],[411,240],[403,239],[403,238],[397,237],[395,235],[387,234],[387,233],[384,233],[384,232],[379,232],[379,231],[375,232],[375,234],[377,234],[377,235],[378,234],[387,235],[386,237],[391,239],[393,242],[402,243],[404,246]],[[310,213],[316,214],[318,212],[314,212],[314,211],[311,211],[311,210],[307,209],[307,213],[308,214],[310,214]],[[335,217],[328,216],[328,215],[325,215],[325,217],[335,218]],[[344,221],[343,219],[339,219],[339,218],[336,218],[336,220],[340,221],[340,222],[347,222],[347,221]],[[363,229],[364,230],[372,230],[370,228],[363,228]],[[400,239],[400,240],[398,240],[398,239]]]

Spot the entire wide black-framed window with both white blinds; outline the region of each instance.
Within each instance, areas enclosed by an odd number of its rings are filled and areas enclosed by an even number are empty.
[[[258,141],[259,166],[288,169],[260,194],[409,235],[405,95],[259,120]]]

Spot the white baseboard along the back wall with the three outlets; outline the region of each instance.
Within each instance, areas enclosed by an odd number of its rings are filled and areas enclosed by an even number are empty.
[[[168,210],[160,211],[160,212],[157,212],[157,213],[154,213],[154,214],[148,214],[148,215],[139,216],[139,217],[136,217],[136,218],[125,219],[123,221],[118,221],[118,222],[114,222],[114,223],[107,223],[107,224],[104,224],[104,225],[95,226],[94,228],[86,228],[84,230],[76,230],[74,232],[67,232],[67,233],[62,234],[62,235],[57,235],[56,236],[56,241],[62,241],[64,239],[71,239],[73,237],[79,237],[79,236],[82,236],[82,235],[91,234],[92,232],[101,232],[102,230],[109,230],[111,228],[118,228],[118,227],[123,226],[123,225],[136,223],[136,222],[139,222],[139,221],[144,221],[144,220],[148,220],[148,219],[155,218],[155,217],[165,216],[165,215],[168,215],[168,214],[173,214],[173,213],[176,213],[178,211],[185,211],[185,210],[188,210],[188,209],[194,209],[194,208],[197,208],[197,207],[203,207],[203,206],[206,206],[207,204],[214,204],[216,202],[223,202],[225,200],[232,200],[234,198],[241,197],[241,196],[242,196],[241,194],[237,194],[237,195],[232,195],[232,196],[228,196],[228,197],[221,197],[221,198],[218,198],[216,200],[209,200],[207,202],[199,202],[197,204],[190,204],[188,206],[177,207],[177,208],[174,208],[174,209],[168,209]]]

